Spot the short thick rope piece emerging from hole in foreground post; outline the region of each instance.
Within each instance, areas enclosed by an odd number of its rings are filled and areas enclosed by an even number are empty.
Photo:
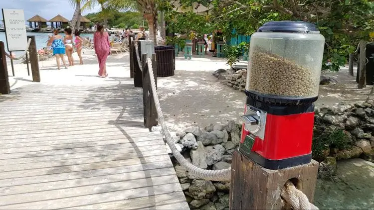
[[[318,210],[316,206],[309,203],[308,197],[296,189],[291,181],[286,182],[286,189],[282,190],[281,197],[287,204],[291,205],[294,210]]]

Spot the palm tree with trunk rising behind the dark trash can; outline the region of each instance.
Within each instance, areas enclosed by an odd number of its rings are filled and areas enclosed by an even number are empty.
[[[157,45],[157,5],[156,0],[108,0],[108,6],[115,9],[137,9],[148,21],[150,40]]]

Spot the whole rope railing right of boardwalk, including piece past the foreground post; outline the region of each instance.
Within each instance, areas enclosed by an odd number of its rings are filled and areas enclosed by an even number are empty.
[[[140,60],[139,52],[137,52],[138,62]],[[161,124],[163,134],[165,135],[166,143],[169,145],[174,157],[177,161],[187,169],[188,173],[199,179],[211,180],[211,181],[230,181],[231,168],[222,170],[205,170],[194,166],[189,163],[185,157],[178,151],[176,143],[171,137],[170,131],[166,125],[166,121],[161,109],[159,96],[156,88],[156,81],[154,78],[154,72],[152,68],[151,58],[147,58],[148,73],[151,85],[151,91],[153,100],[156,106],[158,115],[158,122]],[[318,210],[316,206],[309,202],[307,196],[300,190],[298,190],[291,181],[287,181],[285,189],[281,190],[281,198],[285,207],[292,208],[293,210]]]

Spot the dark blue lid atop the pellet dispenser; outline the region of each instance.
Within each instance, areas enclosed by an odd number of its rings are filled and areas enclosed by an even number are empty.
[[[304,21],[270,21],[257,29],[258,32],[316,33],[315,24]]]

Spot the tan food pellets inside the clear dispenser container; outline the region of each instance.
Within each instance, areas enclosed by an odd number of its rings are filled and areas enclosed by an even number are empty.
[[[318,81],[311,70],[278,55],[255,50],[250,71],[249,90],[303,98],[318,94]]]

